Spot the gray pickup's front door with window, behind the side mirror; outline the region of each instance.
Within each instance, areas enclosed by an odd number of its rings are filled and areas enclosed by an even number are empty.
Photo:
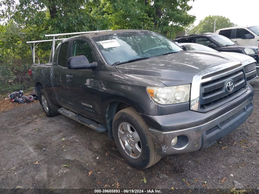
[[[99,77],[101,65],[91,43],[86,39],[70,41],[70,56],[85,55],[89,63],[97,62],[96,70],[67,69],[67,86],[72,99],[72,111],[102,123]]]

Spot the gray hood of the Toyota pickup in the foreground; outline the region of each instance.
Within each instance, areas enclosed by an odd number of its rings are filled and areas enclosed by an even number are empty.
[[[192,83],[193,76],[199,72],[233,61],[238,60],[221,52],[180,51],[115,67],[123,74],[151,79],[166,86],[175,86]]]

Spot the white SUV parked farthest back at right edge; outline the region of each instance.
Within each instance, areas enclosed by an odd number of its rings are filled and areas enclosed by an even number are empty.
[[[215,33],[226,36],[239,44],[259,44],[259,25],[223,28]]]

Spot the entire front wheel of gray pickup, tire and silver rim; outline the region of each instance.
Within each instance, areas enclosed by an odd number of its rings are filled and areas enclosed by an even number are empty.
[[[112,132],[120,154],[135,168],[148,168],[161,159],[147,124],[134,108],[122,109],[115,115]]]

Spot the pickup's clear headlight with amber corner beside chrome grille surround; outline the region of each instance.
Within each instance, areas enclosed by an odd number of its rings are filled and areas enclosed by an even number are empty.
[[[190,84],[166,87],[147,86],[147,93],[157,103],[162,105],[170,105],[181,102],[189,102],[190,88]]]

